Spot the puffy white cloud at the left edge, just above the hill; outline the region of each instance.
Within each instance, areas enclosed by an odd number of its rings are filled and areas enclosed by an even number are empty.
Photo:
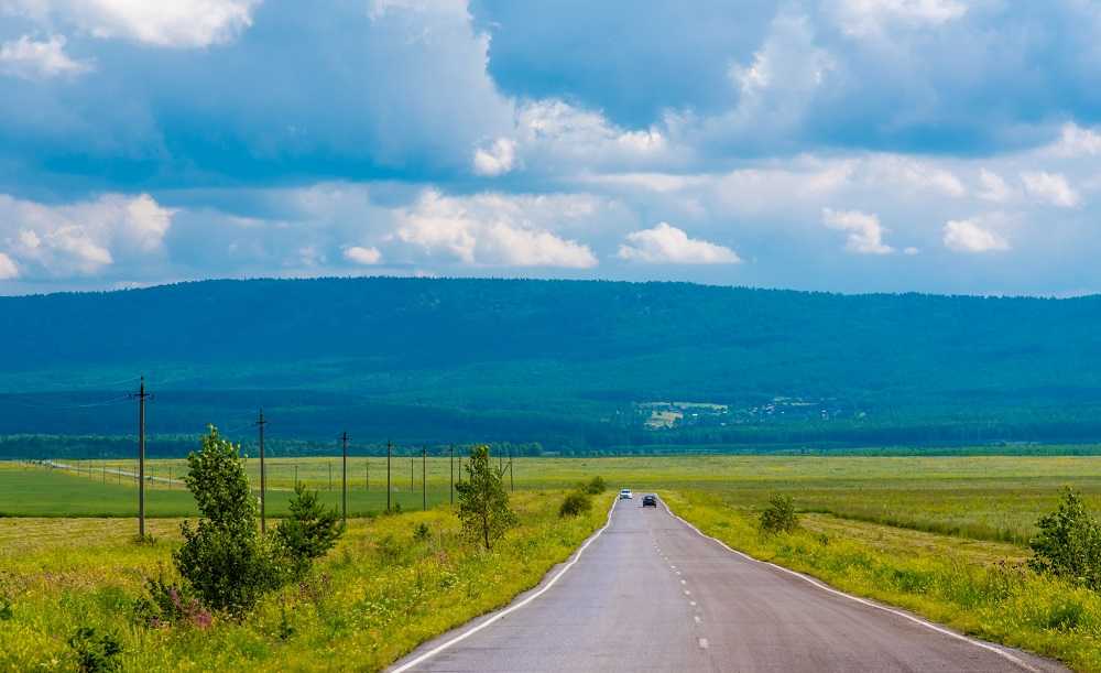
[[[148,194],[62,206],[0,195],[0,242],[39,274],[92,275],[118,256],[140,261],[160,253],[173,214]]]

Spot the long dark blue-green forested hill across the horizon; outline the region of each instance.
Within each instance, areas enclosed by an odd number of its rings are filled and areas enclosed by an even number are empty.
[[[0,434],[243,423],[554,447],[1101,439],[1101,296],[530,280],[0,297]],[[707,403],[707,406],[671,404]]]

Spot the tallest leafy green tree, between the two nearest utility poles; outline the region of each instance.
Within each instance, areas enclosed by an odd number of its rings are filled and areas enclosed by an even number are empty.
[[[181,525],[184,544],[173,553],[204,605],[235,614],[281,584],[271,545],[257,531],[257,502],[239,452],[211,425],[201,449],[187,456],[184,480],[204,518],[195,528]]]

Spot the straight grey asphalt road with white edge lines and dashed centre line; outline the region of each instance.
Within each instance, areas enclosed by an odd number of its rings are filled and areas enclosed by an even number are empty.
[[[575,558],[392,670],[1066,670],[750,560],[640,499]]]

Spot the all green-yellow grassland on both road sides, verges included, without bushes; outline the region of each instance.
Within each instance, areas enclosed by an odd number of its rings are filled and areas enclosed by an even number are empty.
[[[175,517],[194,513],[189,495],[179,484],[151,485],[149,511],[154,519],[150,528],[159,541],[152,546],[137,545],[130,541],[135,528],[133,480],[115,475],[112,482],[110,471],[130,469],[132,463],[73,466],[77,469],[0,466],[0,511],[18,514],[0,518],[0,591],[24,596],[17,604],[34,615],[30,642],[37,644],[28,651],[51,652],[63,663],[67,661],[64,648],[48,633],[64,632],[84,614],[97,616],[105,625],[112,619],[121,623],[124,610],[120,606],[138,593],[141,577],[167,563],[177,536]],[[259,482],[258,467],[254,459],[249,460],[254,484]],[[286,608],[271,604],[246,623],[219,623],[209,642],[182,633],[124,630],[130,645],[160,652],[160,659],[132,655],[128,667],[159,670],[184,661],[190,663],[179,667],[200,669],[248,661],[264,670],[284,656],[302,667],[326,667],[307,658],[305,643],[321,651],[336,651],[346,643],[366,653],[363,667],[384,665],[447,626],[501,605],[568,555],[571,545],[599,524],[603,509],[598,507],[599,512],[573,523],[557,520],[553,510],[563,489],[601,475],[612,489],[658,492],[709,534],[756,557],[961,631],[1060,659],[1076,670],[1101,671],[1101,597],[1036,576],[1026,566],[1027,541],[1036,519],[1055,509],[1065,487],[1084,493],[1090,508],[1101,513],[1101,457],[517,458],[512,476],[525,524],[510,536],[506,550],[487,557],[459,544],[446,507],[432,509],[449,500],[448,459],[429,458],[422,466],[415,457],[411,470],[408,456],[403,456],[392,467],[393,501],[406,512],[419,509],[424,488],[429,511],[374,517],[385,508],[385,458],[349,458],[349,511],[353,517],[373,518],[352,520],[349,539],[323,564],[321,576],[329,578],[326,584],[345,598],[315,605],[313,598],[303,598],[313,589],[280,598],[295,606],[294,619],[303,620],[293,627],[301,639],[273,640],[272,634],[284,629]],[[171,473],[178,479],[184,464],[152,460],[148,468],[159,477],[167,479]],[[269,512],[282,513],[295,476],[319,489],[325,502],[338,506],[339,469],[339,458],[273,459],[268,465]],[[757,513],[774,493],[795,499],[802,522],[798,531],[776,536],[757,532]],[[39,518],[28,518],[32,514]],[[91,518],[105,515],[111,518]],[[408,540],[413,522],[422,520],[439,533],[429,546]],[[72,541],[77,541],[75,546]],[[399,546],[405,551],[391,549],[394,541],[401,541]],[[500,569],[501,564],[516,563],[530,553],[534,558],[525,566],[523,580],[510,582],[487,596],[470,594],[472,584],[460,594],[451,593],[451,587],[439,589],[451,582],[439,579],[449,577],[438,575],[440,567],[451,568],[448,573],[465,568],[460,573],[465,577],[490,577],[488,572],[478,575],[480,564],[497,564]],[[414,599],[402,594],[393,584],[399,578],[421,587],[417,596],[421,591],[424,596]],[[383,593],[368,600],[364,587],[380,583],[390,588],[379,589]],[[434,603],[440,590],[457,605],[443,598]],[[364,607],[368,604],[372,607]],[[393,616],[410,605],[433,607],[414,610],[416,615],[407,618]],[[435,616],[445,605],[447,617]],[[362,629],[374,636],[359,634]]]

